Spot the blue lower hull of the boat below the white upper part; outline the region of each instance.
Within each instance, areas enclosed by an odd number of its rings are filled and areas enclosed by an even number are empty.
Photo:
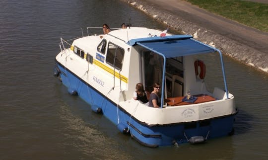
[[[148,125],[131,116],[93,86],[81,80],[62,64],[56,64],[59,76],[68,90],[76,91],[93,111],[101,110],[103,115],[118,126],[121,132],[129,130],[132,137],[144,146],[170,146],[189,142],[191,137],[201,136],[204,140],[233,134],[235,115],[227,115],[195,122],[165,125]]]

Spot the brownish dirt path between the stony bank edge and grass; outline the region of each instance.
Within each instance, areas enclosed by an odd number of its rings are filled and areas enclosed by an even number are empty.
[[[184,0],[145,0],[159,9],[266,53],[268,33],[207,12]],[[254,0],[260,1],[260,0]]]

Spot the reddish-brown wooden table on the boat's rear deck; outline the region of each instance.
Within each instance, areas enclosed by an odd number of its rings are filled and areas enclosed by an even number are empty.
[[[167,98],[167,99],[165,99],[165,102],[171,106],[178,106],[178,105],[187,105],[187,104],[198,104],[198,103],[204,103],[204,102],[216,100],[214,97],[212,97],[210,95],[205,95],[204,97],[202,96],[202,94],[201,95],[194,95],[194,96],[198,98],[194,103],[182,101],[184,96]]]

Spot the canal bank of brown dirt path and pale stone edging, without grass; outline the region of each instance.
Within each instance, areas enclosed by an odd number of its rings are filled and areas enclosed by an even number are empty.
[[[184,0],[123,0],[155,20],[268,73],[268,33],[207,12]],[[134,17],[132,17],[134,18]]]

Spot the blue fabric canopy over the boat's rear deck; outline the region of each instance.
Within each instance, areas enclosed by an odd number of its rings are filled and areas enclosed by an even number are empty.
[[[128,43],[132,46],[139,45],[160,53],[165,58],[216,52],[212,47],[192,38],[190,35],[172,35],[133,39]]]

